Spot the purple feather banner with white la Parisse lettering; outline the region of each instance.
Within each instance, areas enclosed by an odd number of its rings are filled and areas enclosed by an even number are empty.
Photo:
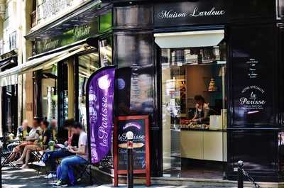
[[[114,73],[114,67],[104,67],[92,74],[87,83],[88,131],[92,163],[101,161],[111,148]]]

